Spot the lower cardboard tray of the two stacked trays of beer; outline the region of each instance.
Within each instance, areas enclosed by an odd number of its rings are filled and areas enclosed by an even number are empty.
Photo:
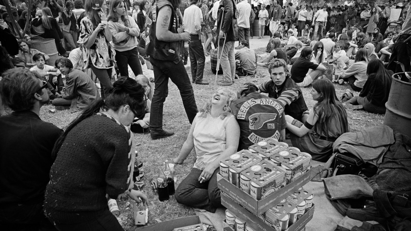
[[[252,213],[242,208],[239,204],[234,202],[231,198],[224,193],[221,194],[221,204],[230,210],[233,215],[240,217],[247,225],[251,226],[254,230],[258,231],[276,231],[270,225],[263,222],[259,217],[254,216]],[[305,211],[305,214],[300,217],[294,224],[289,226],[286,231],[300,231],[304,226],[312,219],[314,215],[314,204],[312,207]],[[230,227],[225,227],[224,231],[232,231]]]

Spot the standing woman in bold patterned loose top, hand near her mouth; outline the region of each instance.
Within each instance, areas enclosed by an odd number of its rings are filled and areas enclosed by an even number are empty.
[[[83,50],[84,68],[91,68],[101,85],[101,95],[110,94],[111,74],[115,51],[111,46],[113,36],[107,25],[105,0],[86,0],[85,17],[81,19],[79,46]]]

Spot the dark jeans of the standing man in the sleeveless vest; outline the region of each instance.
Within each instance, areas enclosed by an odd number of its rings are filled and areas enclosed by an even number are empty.
[[[176,64],[173,61],[157,60],[150,57],[150,62],[154,68],[155,81],[154,95],[151,101],[150,128],[152,130],[161,130],[163,127],[163,106],[169,94],[169,79],[180,90],[185,113],[189,122],[192,123],[198,109],[193,86],[182,60]]]

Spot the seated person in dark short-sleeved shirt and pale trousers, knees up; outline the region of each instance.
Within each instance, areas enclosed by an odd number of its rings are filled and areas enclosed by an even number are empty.
[[[315,81],[326,70],[322,64],[311,61],[312,49],[306,46],[302,49],[300,58],[291,67],[291,79],[299,86],[306,87]]]

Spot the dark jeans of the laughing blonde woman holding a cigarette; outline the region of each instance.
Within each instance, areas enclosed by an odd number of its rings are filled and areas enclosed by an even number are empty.
[[[221,207],[220,189],[217,187],[217,168],[210,180],[200,183],[200,169],[193,168],[188,176],[182,180],[175,190],[175,200],[186,206],[205,209],[215,213],[218,207]]]

